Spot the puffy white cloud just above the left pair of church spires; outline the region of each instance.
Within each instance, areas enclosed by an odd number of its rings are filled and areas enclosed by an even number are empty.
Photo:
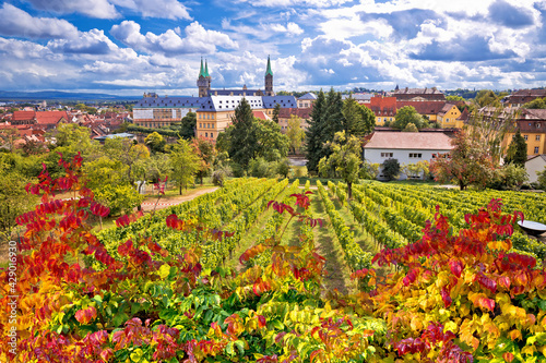
[[[136,50],[149,53],[162,52],[165,55],[185,53],[213,53],[216,47],[237,49],[237,43],[229,36],[216,31],[207,31],[198,22],[193,22],[185,28],[186,37],[180,37],[175,31],[156,35],[151,32],[146,35],[140,33],[140,25],[133,21],[123,21],[114,25],[110,34],[123,44]]]

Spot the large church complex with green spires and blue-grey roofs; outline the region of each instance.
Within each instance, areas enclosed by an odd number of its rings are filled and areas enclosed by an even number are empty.
[[[178,96],[158,97],[157,94],[144,94],[144,97],[133,107],[133,122],[145,128],[168,126],[181,122],[188,112],[197,113],[195,136],[216,141],[218,133],[223,132],[230,123],[235,109],[245,98],[254,114],[271,118],[276,105],[281,108],[297,108],[294,96],[276,96],[273,90],[273,71],[271,60],[264,74],[264,88],[247,89],[214,89],[211,87],[212,77],[209,74],[209,63],[201,60],[197,86],[199,97]]]

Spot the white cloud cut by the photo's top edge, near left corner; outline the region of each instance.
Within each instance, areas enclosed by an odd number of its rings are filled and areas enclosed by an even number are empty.
[[[81,13],[90,17],[119,17],[116,7],[108,0],[26,0],[35,9],[59,14]]]

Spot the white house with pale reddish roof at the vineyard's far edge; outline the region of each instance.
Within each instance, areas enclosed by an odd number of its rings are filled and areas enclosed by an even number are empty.
[[[442,132],[376,132],[364,146],[364,159],[370,164],[399,160],[400,166],[430,161],[439,154],[449,153],[451,138]],[[381,179],[381,172],[379,174]],[[406,179],[401,174],[400,179]]]

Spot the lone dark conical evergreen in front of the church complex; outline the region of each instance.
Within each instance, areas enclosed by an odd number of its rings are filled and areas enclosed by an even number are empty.
[[[242,98],[232,117],[229,131],[229,157],[247,170],[258,152],[258,134],[254,116],[246,98]],[[272,122],[272,121],[271,121]]]

